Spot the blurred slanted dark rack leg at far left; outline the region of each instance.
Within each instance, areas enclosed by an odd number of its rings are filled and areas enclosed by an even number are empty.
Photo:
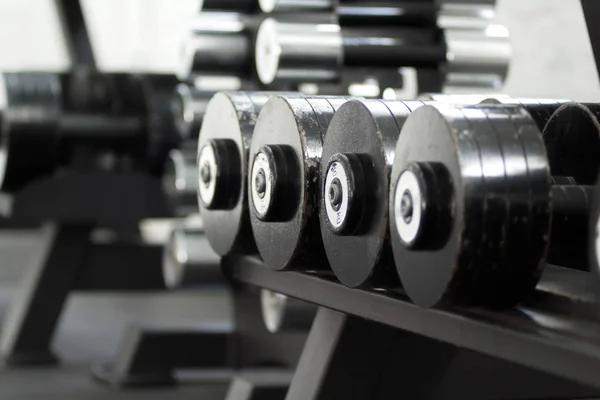
[[[8,365],[56,364],[50,350],[63,305],[89,247],[90,225],[44,227],[45,249],[27,271],[2,325],[0,351]]]

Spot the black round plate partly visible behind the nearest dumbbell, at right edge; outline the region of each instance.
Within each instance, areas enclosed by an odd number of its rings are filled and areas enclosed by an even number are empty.
[[[597,181],[600,162],[600,105],[570,103],[552,115],[543,131],[552,175],[580,185]]]

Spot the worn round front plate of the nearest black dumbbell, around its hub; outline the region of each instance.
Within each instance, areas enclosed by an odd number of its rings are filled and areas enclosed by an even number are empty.
[[[470,282],[477,268],[483,217],[483,172],[474,136],[460,110],[424,106],[408,117],[396,146],[390,204],[394,204],[398,177],[411,162],[442,164],[453,188],[449,198],[440,199],[449,205],[452,222],[435,249],[405,247],[398,234],[395,207],[390,207],[390,234],[400,282],[421,306],[473,301]]]

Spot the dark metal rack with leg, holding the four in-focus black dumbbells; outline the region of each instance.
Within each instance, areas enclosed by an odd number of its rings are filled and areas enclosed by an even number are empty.
[[[288,400],[600,393],[600,305],[585,272],[548,266],[528,301],[499,312],[423,309],[401,290],[350,289],[328,276],[275,272],[252,257],[225,258],[223,268],[242,283],[321,306]]]

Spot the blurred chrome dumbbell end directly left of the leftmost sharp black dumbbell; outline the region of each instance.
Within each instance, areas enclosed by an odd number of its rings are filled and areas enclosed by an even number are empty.
[[[196,159],[198,142],[189,140],[169,152],[163,174],[163,188],[176,215],[198,212]]]

